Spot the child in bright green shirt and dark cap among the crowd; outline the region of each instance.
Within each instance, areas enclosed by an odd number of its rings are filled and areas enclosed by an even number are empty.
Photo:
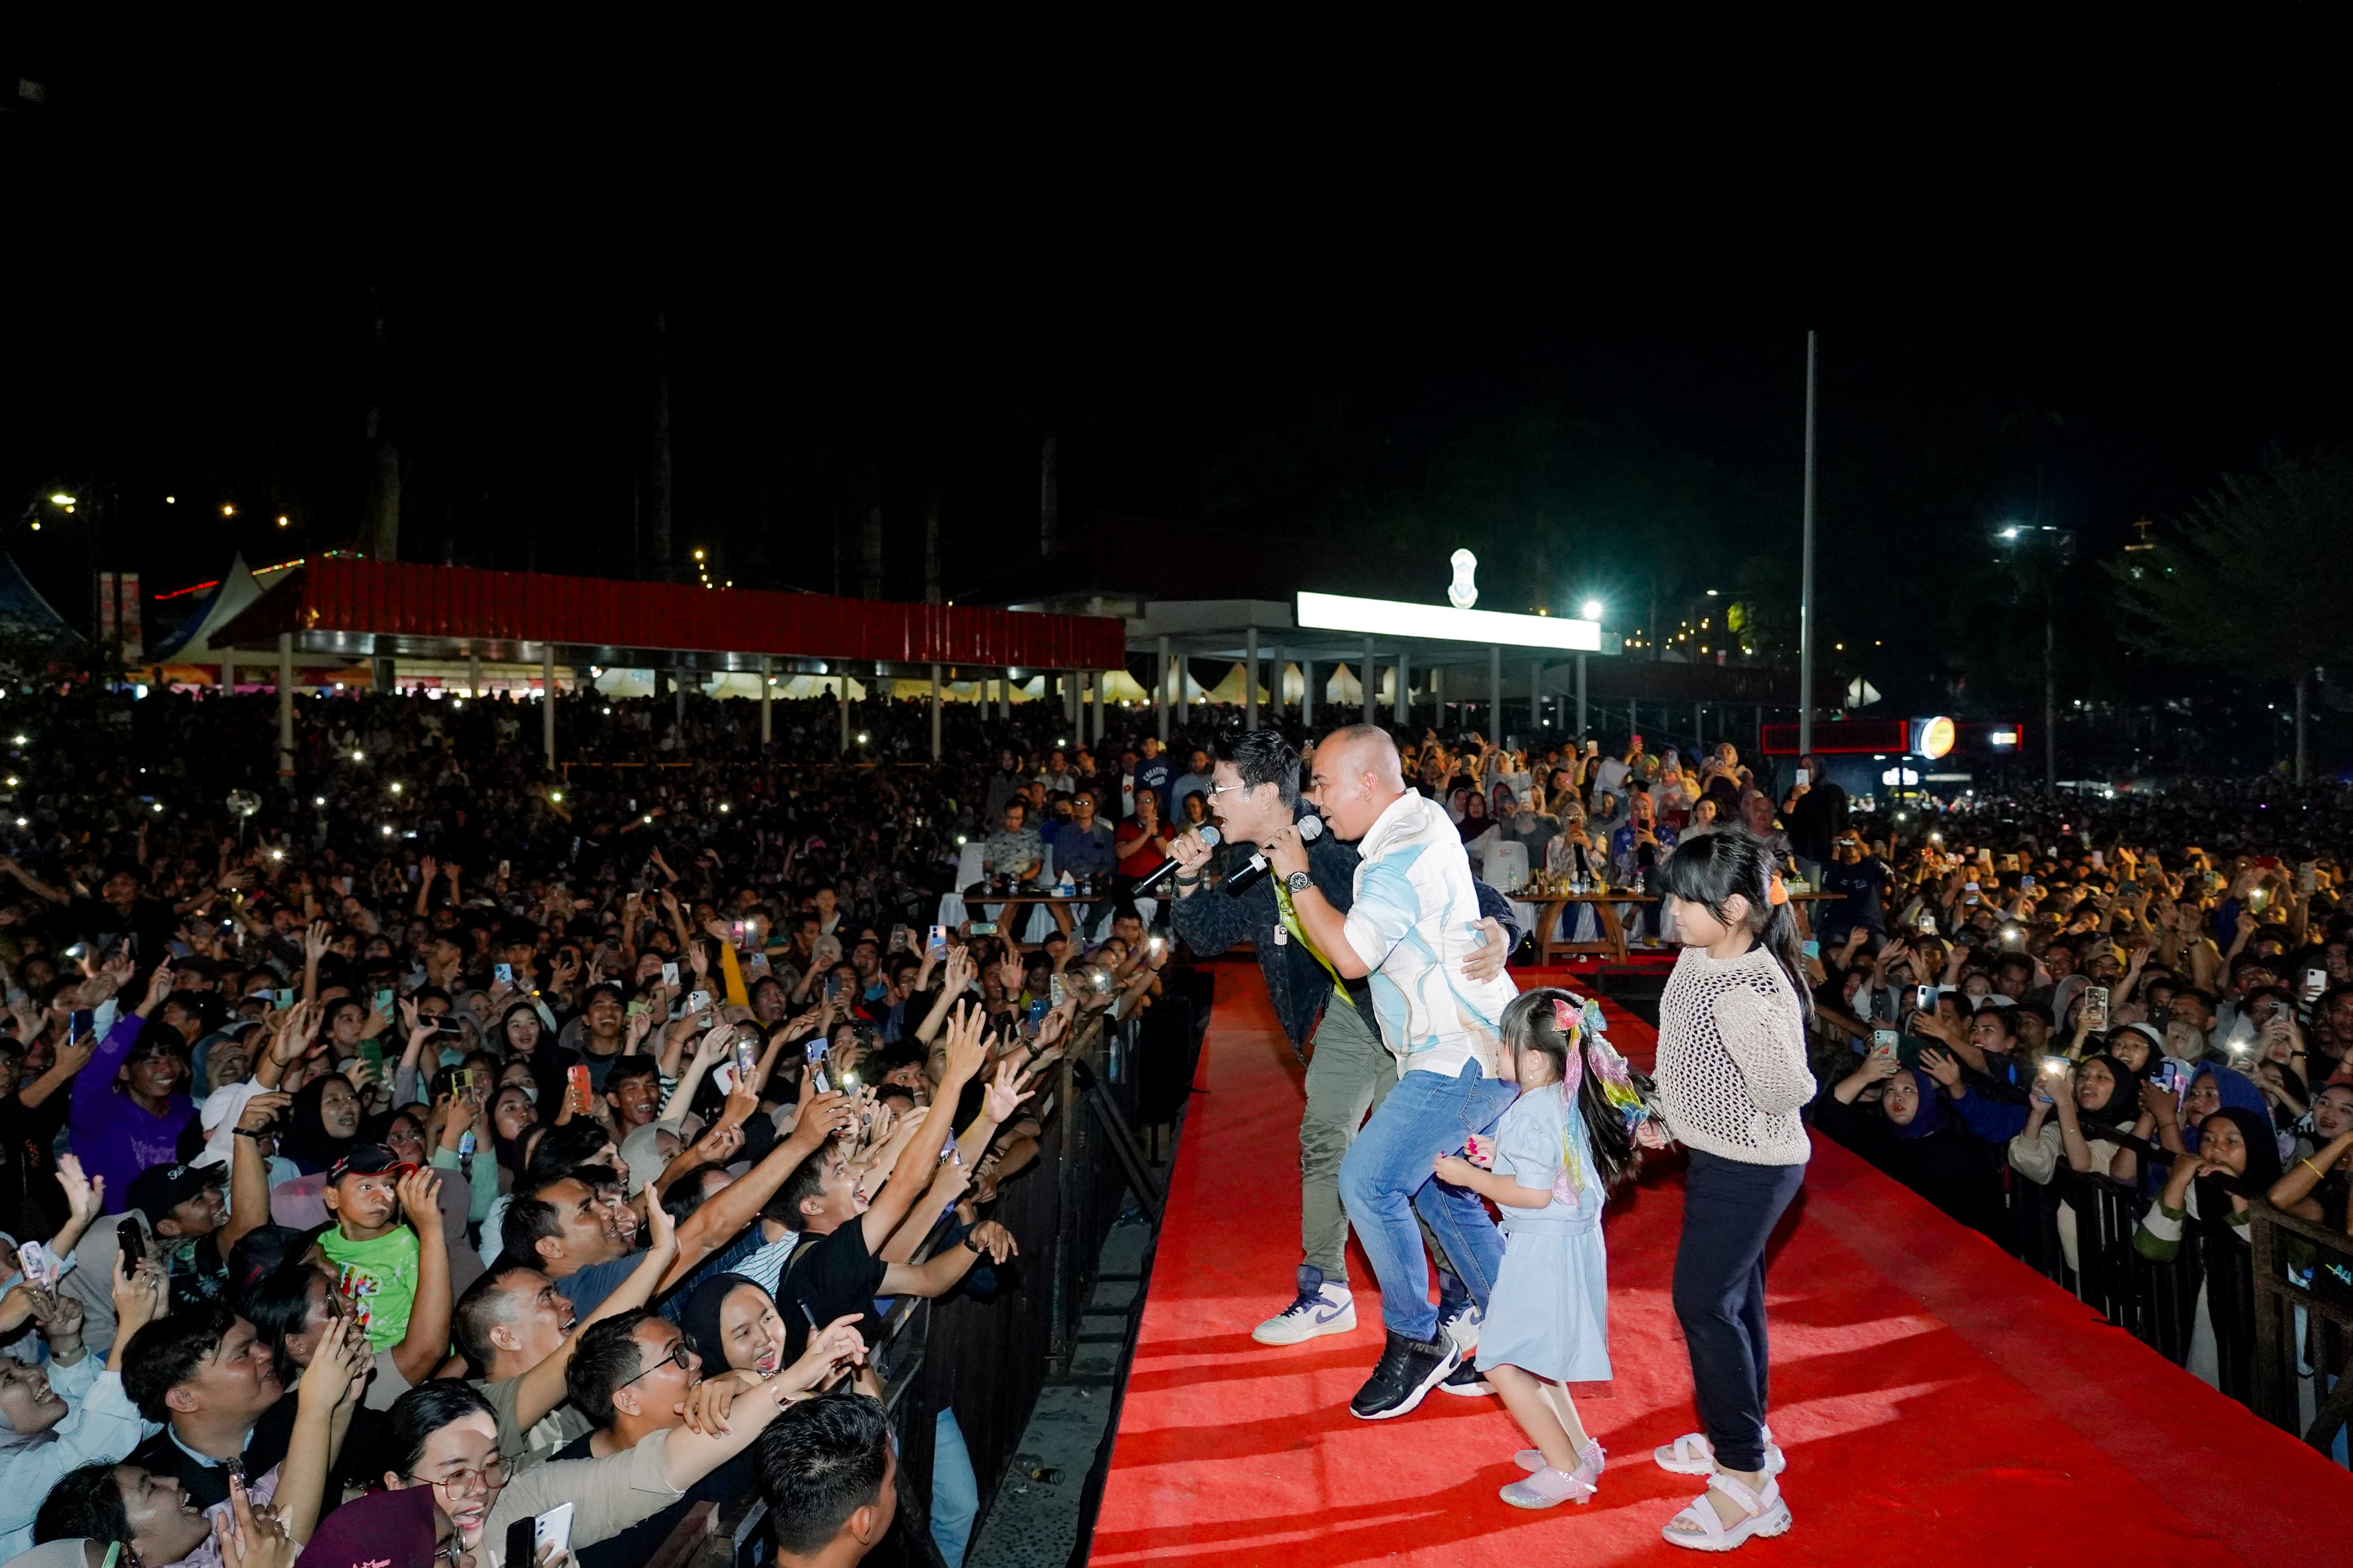
[[[334,1229],[318,1239],[339,1286],[367,1326],[367,1347],[400,1345],[419,1302],[449,1333],[449,1248],[442,1246],[440,1175],[419,1171],[381,1143],[348,1150],[320,1194]],[[407,1213],[407,1225],[402,1225]]]

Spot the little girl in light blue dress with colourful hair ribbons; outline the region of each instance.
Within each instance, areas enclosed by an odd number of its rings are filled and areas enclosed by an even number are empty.
[[[1438,1178],[1504,1211],[1478,1366],[1534,1443],[1518,1455],[1529,1476],[1504,1502],[1548,1509],[1586,1502],[1602,1474],[1602,1446],[1565,1385],[1609,1378],[1602,1204],[1635,1166],[1642,1086],[1602,1039],[1600,1009],[1558,987],[1504,1009],[1504,1046],[1520,1098],[1497,1124],[1492,1168],[1449,1154]]]

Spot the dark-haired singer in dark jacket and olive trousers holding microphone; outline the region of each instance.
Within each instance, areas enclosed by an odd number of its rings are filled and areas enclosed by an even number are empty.
[[[1365,1112],[1398,1086],[1398,1060],[1381,1044],[1362,969],[1355,978],[1334,969],[1299,924],[1292,886],[1271,875],[1266,853],[1254,853],[1280,835],[1297,849],[1325,907],[1346,912],[1355,903],[1355,846],[1322,832],[1322,820],[1301,811],[1299,752],[1278,731],[1254,729],[1219,748],[1209,778],[1209,809],[1231,844],[1228,875],[1224,884],[1207,879],[1217,830],[1179,837],[1169,846],[1176,867],[1169,924],[1202,957],[1249,940],[1275,1018],[1308,1063],[1308,1103],[1299,1121],[1299,1286],[1289,1307],[1252,1331],[1261,1345],[1299,1345],[1355,1328],[1339,1173]],[[1511,905],[1494,889],[1480,886],[1478,893],[1487,945],[1461,961],[1464,983],[1475,990],[1501,976],[1506,954],[1520,940]],[[1311,1041],[1313,1056],[1306,1053]],[[1440,1319],[1468,1354],[1478,1338],[1478,1309],[1447,1262],[1440,1262]]]

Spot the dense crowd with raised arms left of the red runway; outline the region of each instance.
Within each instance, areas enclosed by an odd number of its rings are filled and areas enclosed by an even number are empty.
[[[1059,1060],[1169,959],[1113,886],[1094,938],[934,924],[984,806],[1071,816],[1052,745],[640,701],[600,762],[673,766],[548,776],[520,703],[306,698],[280,783],[268,703],[5,708],[0,1559],[619,1568],[753,1497],[781,1561],[882,1540],[889,1305],[998,1288]]]

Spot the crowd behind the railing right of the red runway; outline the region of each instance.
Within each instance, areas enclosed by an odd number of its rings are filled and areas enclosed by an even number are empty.
[[[1840,893],[1805,959],[1817,1128],[2071,1284],[2115,1272],[2085,1255],[2118,1229],[2097,1204],[2151,1262],[2195,1234],[2195,1276],[2144,1288],[2181,1286],[2177,1352],[2240,1399],[2254,1321],[2226,1291],[2247,1279],[2252,1201],[2344,1237],[2285,1237],[2282,1255],[2294,1284],[2353,1302],[2341,788],[1805,816]],[[2344,1371],[2318,1338],[2299,1361],[2306,1401]]]

